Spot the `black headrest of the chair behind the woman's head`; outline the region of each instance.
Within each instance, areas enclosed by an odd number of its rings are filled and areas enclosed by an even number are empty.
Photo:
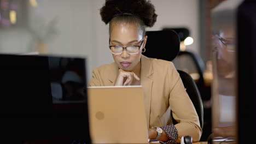
[[[150,58],[172,61],[179,53],[180,40],[173,30],[147,31],[146,52],[142,54]]]

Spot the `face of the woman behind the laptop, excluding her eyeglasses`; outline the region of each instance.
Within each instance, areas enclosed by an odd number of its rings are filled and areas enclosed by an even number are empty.
[[[121,54],[113,54],[115,63],[118,64],[120,69],[125,71],[133,71],[133,69],[138,68],[141,59],[142,49],[144,48],[147,37],[143,38],[143,32],[136,24],[127,24],[124,22],[112,23],[110,31],[110,41],[109,45],[112,46],[139,46],[139,52],[137,54],[129,54],[126,50]],[[140,67],[139,67],[140,68]]]

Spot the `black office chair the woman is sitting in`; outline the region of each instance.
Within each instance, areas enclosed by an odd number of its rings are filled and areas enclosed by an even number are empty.
[[[150,58],[164,59],[172,61],[179,53],[179,36],[172,30],[168,31],[147,31],[148,36],[146,52],[144,56]],[[197,115],[199,116],[200,127],[203,128],[203,105],[199,89],[192,77],[182,70],[178,70],[184,87],[187,89],[189,98],[193,102]],[[173,124],[177,122],[172,118]]]

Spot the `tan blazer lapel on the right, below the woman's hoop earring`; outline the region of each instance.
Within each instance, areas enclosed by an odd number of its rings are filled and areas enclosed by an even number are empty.
[[[153,86],[153,65],[151,59],[146,56],[141,57],[141,85],[144,91],[144,103],[146,110],[146,117],[149,128],[149,117],[152,97],[152,86]]]

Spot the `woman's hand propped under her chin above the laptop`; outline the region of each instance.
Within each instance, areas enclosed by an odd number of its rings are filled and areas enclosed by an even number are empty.
[[[139,77],[132,71],[119,69],[119,74],[115,80],[114,86],[131,86],[133,79],[139,81]]]

